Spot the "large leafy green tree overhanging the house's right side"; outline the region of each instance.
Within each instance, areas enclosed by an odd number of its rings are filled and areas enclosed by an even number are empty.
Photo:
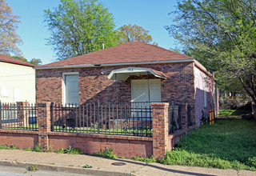
[[[186,54],[218,79],[239,80],[256,104],[256,0],[180,0],[171,15],[166,30]]]

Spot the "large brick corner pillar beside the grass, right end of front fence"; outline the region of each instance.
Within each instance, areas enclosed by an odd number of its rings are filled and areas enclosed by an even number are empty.
[[[152,107],[152,126],[153,126],[153,156],[162,158],[169,149],[168,141],[168,107],[166,102],[153,102]]]

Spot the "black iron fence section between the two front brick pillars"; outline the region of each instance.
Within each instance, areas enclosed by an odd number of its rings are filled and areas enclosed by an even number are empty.
[[[53,131],[152,136],[152,110],[147,102],[51,104]]]

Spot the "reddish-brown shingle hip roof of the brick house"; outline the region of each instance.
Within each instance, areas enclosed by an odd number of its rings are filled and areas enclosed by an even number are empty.
[[[153,62],[165,60],[182,60],[190,57],[154,46],[145,42],[127,42],[122,45],[98,50],[89,54],[62,61],[49,63],[39,67],[72,66],[86,64],[127,63],[127,62]]]

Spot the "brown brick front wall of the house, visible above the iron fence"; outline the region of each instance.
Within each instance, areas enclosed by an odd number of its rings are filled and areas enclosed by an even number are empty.
[[[78,69],[55,69],[37,70],[37,102],[57,102],[62,103],[62,73],[78,72],[79,80],[79,103],[85,102],[114,102],[116,100],[116,85],[114,80],[107,78],[111,70],[128,66],[108,66]],[[161,91],[162,102],[182,102],[191,106],[191,118],[194,116],[194,73],[193,63],[175,64],[152,64],[140,65],[137,67],[152,68],[162,71],[167,79],[162,79]],[[103,74],[102,74],[103,73]],[[118,81],[118,101],[130,101],[131,88],[130,80],[126,82]],[[154,78],[151,77],[150,78]]]

